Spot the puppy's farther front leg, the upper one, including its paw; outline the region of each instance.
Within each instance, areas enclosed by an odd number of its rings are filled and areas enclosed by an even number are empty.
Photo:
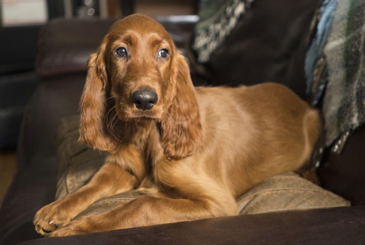
[[[96,200],[134,188],[136,178],[116,164],[106,163],[77,192],[41,208],[34,218],[36,231],[42,235],[69,222]]]

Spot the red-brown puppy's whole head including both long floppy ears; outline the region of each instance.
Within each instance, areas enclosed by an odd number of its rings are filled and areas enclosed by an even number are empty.
[[[134,14],[116,21],[90,55],[80,102],[80,140],[116,150],[116,120],[155,120],[169,159],[200,148],[201,126],[189,66],[166,29]]]

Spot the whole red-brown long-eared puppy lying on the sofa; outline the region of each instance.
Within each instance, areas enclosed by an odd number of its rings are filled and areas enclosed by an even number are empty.
[[[41,234],[237,215],[237,196],[308,162],[321,126],[280,84],[194,88],[165,28],[139,14],[115,22],[90,55],[80,105],[80,141],[109,156],[80,190],[37,212]],[[72,220],[132,189],[146,195]]]

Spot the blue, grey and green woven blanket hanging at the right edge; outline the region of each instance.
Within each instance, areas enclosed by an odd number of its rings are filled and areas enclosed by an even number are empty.
[[[312,25],[305,71],[313,105],[322,106],[324,144],[340,152],[365,122],[365,1],[323,0]]]

